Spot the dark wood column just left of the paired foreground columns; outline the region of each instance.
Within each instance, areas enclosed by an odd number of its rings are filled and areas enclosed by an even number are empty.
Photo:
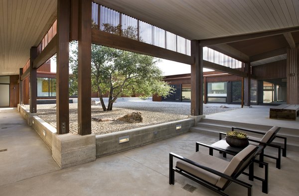
[[[37,75],[36,69],[33,67],[33,61],[37,57],[37,47],[31,47],[30,49],[30,87],[29,87],[29,104],[30,113],[36,113],[36,96],[37,96]]]

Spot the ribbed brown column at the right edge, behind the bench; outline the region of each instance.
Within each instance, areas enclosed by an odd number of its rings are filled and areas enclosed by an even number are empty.
[[[299,104],[299,44],[287,55],[287,103]]]

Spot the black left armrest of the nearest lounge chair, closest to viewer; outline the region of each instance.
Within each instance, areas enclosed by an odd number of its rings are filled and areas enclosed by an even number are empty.
[[[227,180],[229,180],[229,181],[231,181],[231,182],[234,182],[234,183],[236,183],[236,184],[239,184],[239,185],[241,185],[241,186],[243,186],[243,187],[246,187],[246,188],[250,188],[250,187],[252,187],[252,185],[250,185],[250,184],[248,184],[248,183],[245,183],[245,182],[240,181],[240,180],[238,180],[238,179],[232,178],[231,176],[228,176],[228,175],[226,175],[226,174],[223,174],[223,173],[221,173],[221,172],[218,172],[217,170],[213,170],[213,169],[208,168],[208,167],[206,167],[206,166],[200,165],[200,164],[198,164],[198,163],[196,163],[196,162],[194,162],[194,161],[192,161],[192,160],[190,160],[190,159],[187,159],[187,158],[182,157],[182,156],[180,156],[180,155],[174,154],[174,153],[172,153],[172,152],[169,153],[169,169],[173,168],[173,157],[175,157],[175,158],[177,158],[177,159],[179,159],[179,160],[182,160],[182,161],[184,161],[184,162],[186,162],[186,163],[189,163],[189,164],[191,164],[191,165],[193,165],[193,166],[195,166],[195,167],[198,167],[198,168],[200,168],[200,169],[203,169],[203,170],[205,170],[205,171],[208,171],[208,172],[210,172],[210,173],[212,173],[212,174],[215,174],[215,175],[217,175],[217,176],[220,176],[220,177],[222,177],[222,178],[225,178],[225,179],[227,179]]]

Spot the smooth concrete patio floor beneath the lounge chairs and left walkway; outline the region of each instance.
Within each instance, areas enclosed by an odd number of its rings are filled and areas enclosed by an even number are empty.
[[[0,152],[0,196],[214,196],[214,192],[179,174],[175,174],[175,185],[169,185],[168,153],[188,156],[195,151],[196,141],[211,144],[216,140],[189,132],[60,170],[51,158],[50,149],[21,115],[16,110],[0,108],[0,150],[7,149]],[[208,153],[203,147],[200,150]],[[266,158],[266,162],[270,165],[268,195],[299,195],[299,153],[288,151],[281,170],[276,169],[274,160]],[[254,196],[266,195],[261,192],[259,181],[248,181],[244,175],[240,179],[253,184]],[[185,184],[196,187],[195,191],[182,189]],[[246,194],[235,184],[225,193]]]

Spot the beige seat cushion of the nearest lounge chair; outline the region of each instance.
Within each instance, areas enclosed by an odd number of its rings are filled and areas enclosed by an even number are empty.
[[[219,159],[217,157],[213,157],[208,154],[201,153],[201,152],[196,152],[187,158],[198,163],[199,165],[211,168],[211,169],[216,170],[221,173],[224,172],[225,168],[229,164],[228,161],[225,161],[223,159]],[[203,179],[213,185],[215,185],[219,180],[219,176],[212,174],[210,172],[207,172],[198,167],[195,167],[195,166],[193,166],[189,163],[186,163],[184,161],[177,161],[176,167],[180,168],[186,172],[189,172],[190,174],[193,174],[194,176],[196,176],[200,179]]]

